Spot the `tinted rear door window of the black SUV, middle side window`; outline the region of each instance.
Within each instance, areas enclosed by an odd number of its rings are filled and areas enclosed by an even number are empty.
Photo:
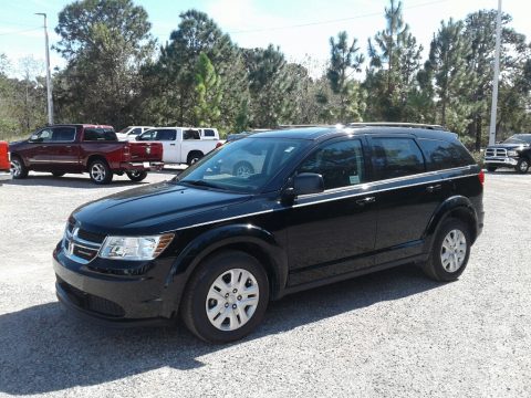
[[[412,138],[372,138],[376,179],[396,178],[425,171],[424,158]]]

